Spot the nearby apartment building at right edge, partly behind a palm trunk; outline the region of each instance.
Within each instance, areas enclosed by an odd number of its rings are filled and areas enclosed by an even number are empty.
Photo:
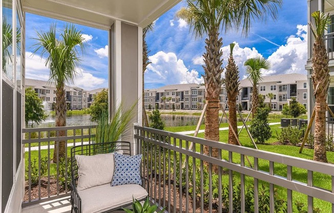
[[[307,20],[310,22],[314,20],[314,18],[311,17],[311,14],[315,11],[320,10],[321,12],[324,12],[325,14],[329,14],[330,16],[330,24],[327,27],[327,31],[324,32],[324,39],[325,39],[325,45],[328,52],[328,68],[329,68],[329,75],[330,75],[330,84],[328,89],[328,97],[327,97],[327,103],[328,107],[334,111],[334,4],[332,1],[329,0],[309,0],[308,1],[308,10],[307,10]],[[308,26],[307,32],[311,32],[310,27]],[[307,99],[308,99],[308,119],[310,118],[310,115],[312,114],[312,111],[315,107],[315,96],[314,94],[314,88],[313,88],[313,82],[311,78],[312,74],[312,47],[314,44],[314,36],[312,33],[307,34],[307,62],[305,65],[305,69],[307,70],[307,82],[310,87],[307,91]],[[329,119],[328,121],[334,121],[334,118],[331,116],[329,112],[327,112],[326,115]]]

